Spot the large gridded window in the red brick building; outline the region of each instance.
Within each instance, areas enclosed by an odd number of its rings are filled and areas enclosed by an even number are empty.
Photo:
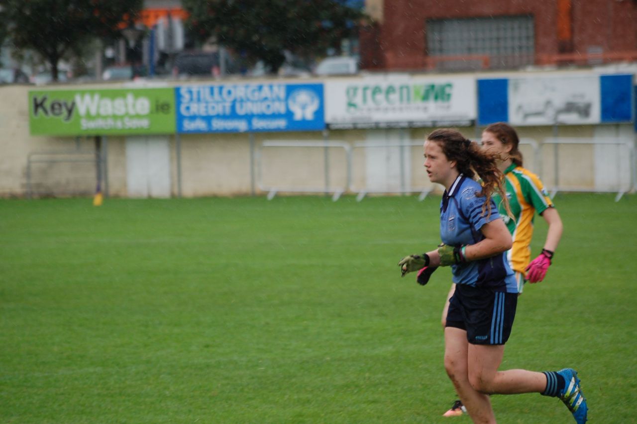
[[[532,16],[428,19],[427,54],[437,69],[517,68],[534,62]],[[462,57],[467,59],[462,59]]]

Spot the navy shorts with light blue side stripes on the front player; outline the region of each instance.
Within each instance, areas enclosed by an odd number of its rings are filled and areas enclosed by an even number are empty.
[[[466,330],[471,344],[505,344],[513,328],[517,298],[517,293],[456,284],[446,326]]]

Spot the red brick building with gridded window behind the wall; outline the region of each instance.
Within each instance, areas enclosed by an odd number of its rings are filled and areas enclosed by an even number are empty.
[[[637,61],[635,0],[368,0],[362,68],[514,69]]]

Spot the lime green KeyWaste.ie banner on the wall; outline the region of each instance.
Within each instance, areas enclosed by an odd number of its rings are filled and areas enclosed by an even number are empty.
[[[174,134],[175,89],[29,91],[31,135]]]

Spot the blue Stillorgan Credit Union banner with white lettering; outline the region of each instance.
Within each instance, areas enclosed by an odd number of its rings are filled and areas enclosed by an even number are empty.
[[[320,131],[323,84],[219,84],[175,87],[178,133]]]

